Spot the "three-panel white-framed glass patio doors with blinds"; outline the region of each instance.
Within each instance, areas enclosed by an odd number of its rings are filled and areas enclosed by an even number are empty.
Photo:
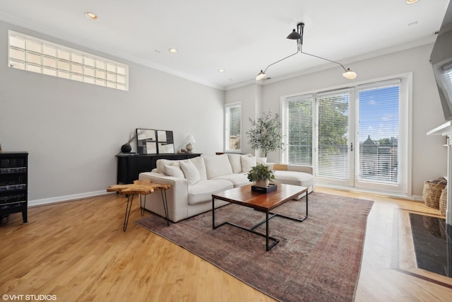
[[[320,184],[407,193],[406,81],[286,98],[283,161],[313,165]]]

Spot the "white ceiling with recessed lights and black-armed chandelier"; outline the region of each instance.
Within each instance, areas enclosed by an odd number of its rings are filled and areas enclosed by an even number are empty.
[[[297,51],[353,62],[434,42],[449,0],[11,0],[0,20],[220,89],[254,83]],[[97,21],[84,16],[96,13]],[[168,50],[175,48],[177,54]],[[297,54],[270,66],[268,83],[335,67]],[[218,72],[223,69],[224,72]]]

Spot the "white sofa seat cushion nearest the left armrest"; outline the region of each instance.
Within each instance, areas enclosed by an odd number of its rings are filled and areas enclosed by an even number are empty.
[[[189,185],[189,204],[212,202],[212,194],[232,189],[227,180],[200,180],[196,185]]]

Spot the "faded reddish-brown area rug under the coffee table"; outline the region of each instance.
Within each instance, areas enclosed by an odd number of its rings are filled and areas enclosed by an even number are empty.
[[[279,301],[353,301],[373,203],[312,192],[305,221],[270,220],[270,236],[280,242],[268,252],[261,236],[230,225],[213,230],[212,211],[170,226],[157,215],[135,222]],[[304,216],[305,209],[303,198],[274,212]],[[215,210],[215,224],[251,227],[263,219],[237,204]],[[265,233],[265,223],[256,231]]]

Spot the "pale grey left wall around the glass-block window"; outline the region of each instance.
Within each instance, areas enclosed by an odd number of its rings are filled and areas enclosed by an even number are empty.
[[[115,184],[115,154],[137,127],[172,130],[175,147],[193,134],[196,153],[223,149],[224,91],[131,62],[129,91],[8,68],[9,29],[124,60],[0,22],[0,144],[29,152],[30,204]]]

